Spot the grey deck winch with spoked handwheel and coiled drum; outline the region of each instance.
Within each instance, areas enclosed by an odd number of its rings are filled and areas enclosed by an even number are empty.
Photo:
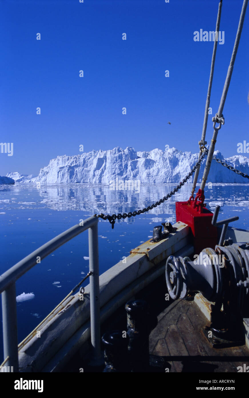
[[[166,262],[166,283],[170,297],[185,298],[200,292],[215,302],[211,330],[220,347],[243,343],[243,316],[249,298],[249,244],[233,243],[206,248],[194,261],[170,256]],[[210,337],[210,336],[208,336]],[[222,339],[222,340],[219,340]]]

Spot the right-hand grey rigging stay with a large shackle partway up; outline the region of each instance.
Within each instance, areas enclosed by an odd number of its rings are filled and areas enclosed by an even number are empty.
[[[236,58],[236,54],[237,54],[237,49],[239,47],[239,39],[241,36],[241,31],[243,28],[243,22],[245,19],[245,12],[246,12],[246,8],[247,8],[247,3],[248,0],[244,0],[243,1],[243,5],[242,5],[242,10],[241,10],[241,14],[240,14],[240,18],[239,18],[239,25],[238,25],[238,29],[237,29],[237,34],[236,34],[236,38],[235,38],[235,43],[234,43],[234,49],[233,49],[233,53],[232,53],[232,57],[230,60],[230,65],[228,66],[228,72],[226,75],[226,80],[225,80],[225,84],[224,84],[224,88],[223,88],[223,92],[222,92],[222,96],[220,99],[220,105],[219,105],[219,109],[218,112],[216,113],[215,117],[213,117],[212,121],[214,122],[214,132],[213,132],[213,138],[211,140],[211,144],[210,144],[210,148],[208,151],[208,156],[207,156],[207,162],[206,162],[206,166],[205,166],[205,170],[203,173],[203,181],[201,183],[201,190],[204,190],[205,188],[205,184],[208,178],[208,173],[210,170],[210,166],[211,166],[211,162],[212,162],[212,158],[213,158],[213,154],[214,154],[214,147],[215,147],[215,142],[216,142],[216,138],[218,135],[218,131],[221,128],[221,125],[224,124],[224,117],[222,115],[222,111],[225,105],[225,101],[226,101],[226,96],[228,93],[228,88],[229,88],[229,84],[230,84],[230,80],[232,77],[232,72],[233,72],[233,68],[234,68],[234,62],[235,62],[235,58]],[[219,123],[219,127],[215,127],[216,123]]]

